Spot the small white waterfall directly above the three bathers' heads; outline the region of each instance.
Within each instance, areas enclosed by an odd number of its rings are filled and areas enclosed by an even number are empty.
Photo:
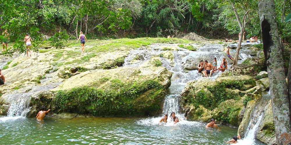
[[[171,112],[175,112],[178,114],[179,110],[179,100],[180,95],[166,95],[165,101],[164,101],[164,106],[163,106],[163,114],[168,114],[170,115]]]

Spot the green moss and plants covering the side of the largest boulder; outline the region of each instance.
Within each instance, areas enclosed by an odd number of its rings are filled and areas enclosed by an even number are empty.
[[[125,84],[118,79],[113,79],[111,83],[106,90],[83,86],[57,91],[56,107],[67,112],[88,113],[95,116],[134,115],[140,112],[132,104],[136,97],[151,88],[162,88],[153,80]],[[120,88],[116,89],[116,87]],[[150,108],[155,110],[157,106],[150,106]]]

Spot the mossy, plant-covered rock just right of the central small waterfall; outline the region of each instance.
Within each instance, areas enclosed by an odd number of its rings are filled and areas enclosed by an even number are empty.
[[[220,77],[215,81],[202,78],[189,81],[180,94],[182,111],[188,120],[209,121],[212,117],[235,126],[244,108],[242,97],[258,93],[255,80],[249,76]]]

